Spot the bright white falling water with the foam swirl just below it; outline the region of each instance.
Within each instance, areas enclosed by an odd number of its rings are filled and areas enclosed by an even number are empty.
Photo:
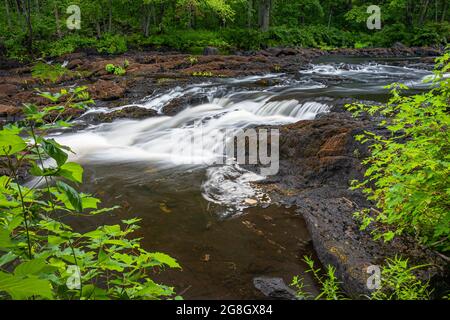
[[[191,94],[192,88],[185,91]],[[147,101],[159,108],[161,101],[180,96],[174,91]],[[121,120],[102,124],[82,132],[66,134],[57,140],[74,150],[80,163],[151,162],[161,168],[174,166],[207,167],[223,157],[225,133],[258,125],[281,125],[314,119],[327,112],[329,106],[295,99],[272,101],[274,93],[239,92],[212,99],[211,103],[190,107],[176,116],[160,116],[145,120]],[[88,111],[89,112],[89,111]],[[201,144],[195,143],[201,139]],[[180,144],[183,149],[180,149]],[[186,152],[189,150],[189,152]],[[227,159],[225,162],[229,162]],[[262,179],[237,164],[211,167],[206,172],[203,195],[206,199],[231,206],[226,210],[239,213],[245,200],[258,191],[250,182]],[[234,211],[233,211],[234,210]]]

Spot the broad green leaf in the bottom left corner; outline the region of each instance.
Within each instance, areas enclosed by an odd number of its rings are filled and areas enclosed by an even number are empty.
[[[32,296],[52,299],[50,281],[36,277],[22,277],[0,272],[0,291],[7,292],[13,300],[24,300]]]

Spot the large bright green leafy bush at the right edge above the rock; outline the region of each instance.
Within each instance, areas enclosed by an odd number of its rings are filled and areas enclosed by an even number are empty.
[[[356,213],[362,228],[373,227],[376,238],[392,240],[409,233],[441,250],[450,250],[450,54],[437,59],[434,88],[404,96],[402,84],[390,86],[386,105],[355,104],[355,115],[380,115],[389,134],[365,132],[356,139],[370,144],[365,180],[354,181],[376,209]],[[445,76],[446,75],[446,76]],[[381,223],[381,226],[379,225]]]

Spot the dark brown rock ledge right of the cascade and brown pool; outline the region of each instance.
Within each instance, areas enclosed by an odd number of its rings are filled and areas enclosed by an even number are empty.
[[[353,213],[370,208],[350,181],[361,179],[361,160],[367,149],[353,138],[363,130],[379,130],[369,119],[355,119],[342,106],[313,121],[279,127],[280,172],[261,187],[276,202],[295,206],[309,229],[314,249],[323,265],[336,267],[344,290],[353,298],[370,294],[367,267],[383,265],[395,255],[412,265],[431,264],[419,272],[439,293],[450,288],[448,260],[404,236],[392,242],[374,241],[361,231]]]

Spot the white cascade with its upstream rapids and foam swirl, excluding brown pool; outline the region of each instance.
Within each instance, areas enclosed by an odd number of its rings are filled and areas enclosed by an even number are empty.
[[[312,120],[330,110],[333,98],[362,91],[386,95],[383,87],[390,82],[403,79],[419,86],[430,75],[425,70],[377,63],[341,63],[315,65],[295,78],[269,74],[219,79],[157,92],[135,104],[158,111],[158,117],[115,121],[56,138],[69,145],[75,151],[74,160],[83,164],[147,163],[154,170],[205,170],[203,197],[226,207],[226,215],[236,214],[248,206],[248,199],[263,197],[251,186],[252,181],[263,177],[243,169],[233,159],[225,159],[224,165],[211,165],[224,157],[225,132]],[[338,77],[340,82],[330,85],[330,77],[333,81]],[[276,81],[277,85],[255,87],[261,79]],[[195,95],[207,96],[209,103],[189,106],[173,117],[162,114],[163,107],[173,99]],[[87,114],[124,107],[94,108]]]

